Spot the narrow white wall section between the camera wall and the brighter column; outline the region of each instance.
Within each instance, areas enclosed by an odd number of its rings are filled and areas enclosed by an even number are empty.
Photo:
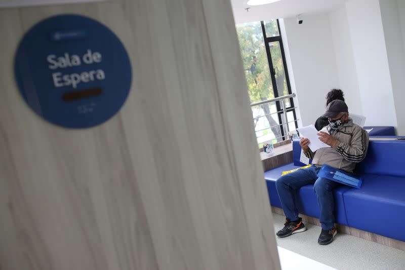
[[[332,41],[338,70],[338,87],[345,94],[349,111],[362,114],[353,47],[349,35],[346,7],[343,5],[329,14]]]

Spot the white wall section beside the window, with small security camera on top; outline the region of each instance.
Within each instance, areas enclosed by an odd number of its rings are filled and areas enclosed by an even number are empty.
[[[315,123],[325,111],[326,94],[339,85],[331,26],[327,14],[284,19],[288,42],[292,90],[297,101],[302,125]],[[295,89],[294,89],[295,88]]]

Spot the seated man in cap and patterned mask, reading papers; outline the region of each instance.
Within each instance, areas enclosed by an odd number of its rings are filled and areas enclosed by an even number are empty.
[[[353,124],[349,119],[348,108],[344,101],[334,100],[329,103],[323,116],[329,119],[329,134],[319,132],[319,140],[332,147],[320,148],[313,153],[308,147],[309,140],[301,139],[300,145],[305,156],[312,159],[312,166],[281,176],[276,181],[281,206],[286,214],[286,223],[284,228],[277,232],[278,237],[284,238],[306,230],[302,218],[298,217],[294,197],[296,190],[301,186],[314,184],[322,227],[318,243],[321,245],[332,243],[337,234],[334,226],[333,189],[340,184],[326,178],[318,178],[316,175],[323,164],[352,173],[356,163],[366,157],[369,135],[366,130]]]

